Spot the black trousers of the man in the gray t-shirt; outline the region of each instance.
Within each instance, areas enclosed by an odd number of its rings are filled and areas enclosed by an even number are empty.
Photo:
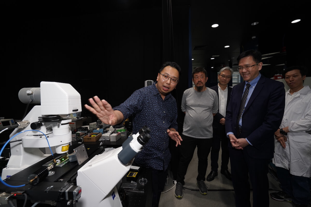
[[[193,153],[197,147],[197,157],[198,157],[198,166],[197,166],[197,180],[204,180],[207,170],[207,157],[211,150],[211,145],[213,142],[212,138],[209,139],[197,139],[181,135],[183,141],[179,146],[180,150],[180,159],[179,166],[177,170],[177,182],[185,184],[184,179],[188,169],[188,165],[192,160]]]

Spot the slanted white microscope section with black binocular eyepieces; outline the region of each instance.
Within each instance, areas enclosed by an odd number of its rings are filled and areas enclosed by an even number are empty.
[[[144,126],[121,147],[96,155],[78,170],[77,186],[82,189],[78,207],[122,207],[116,185],[150,139],[149,133],[150,129]]]

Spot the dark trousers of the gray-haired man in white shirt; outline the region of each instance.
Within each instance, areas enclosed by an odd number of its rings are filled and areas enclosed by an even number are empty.
[[[229,138],[225,133],[225,125],[213,129],[213,145],[211,148],[211,170],[218,171],[218,157],[221,146],[221,169],[227,170],[229,163]]]

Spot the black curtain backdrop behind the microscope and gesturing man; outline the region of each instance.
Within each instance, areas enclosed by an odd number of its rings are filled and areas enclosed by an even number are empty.
[[[26,104],[18,91],[41,81],[70,83],[82,105],[97,95],[117,106],[145,80],[155,81],[163,62],[189,70],[188,5],[12,1],[2,10],[1,117],[21,119]],[[173,92],[178,107],[186,88],[181,79]],[[97,120],[84,107],[82,116]]]

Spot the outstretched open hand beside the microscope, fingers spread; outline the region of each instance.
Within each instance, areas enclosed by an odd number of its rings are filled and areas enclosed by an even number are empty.
[[[115,125],[123,121],[124,117],[121,111],[113,110],[107,101],[94,96],[89,99],[89,102],[92,107],[87,104],[84,107],[95,114],[104,124]]]

